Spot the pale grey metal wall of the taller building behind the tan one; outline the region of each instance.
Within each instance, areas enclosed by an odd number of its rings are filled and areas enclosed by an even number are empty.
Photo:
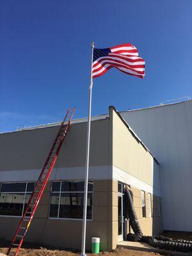
[[[192,231],[192,101],[121,115],[160,163],[164,230]]]

